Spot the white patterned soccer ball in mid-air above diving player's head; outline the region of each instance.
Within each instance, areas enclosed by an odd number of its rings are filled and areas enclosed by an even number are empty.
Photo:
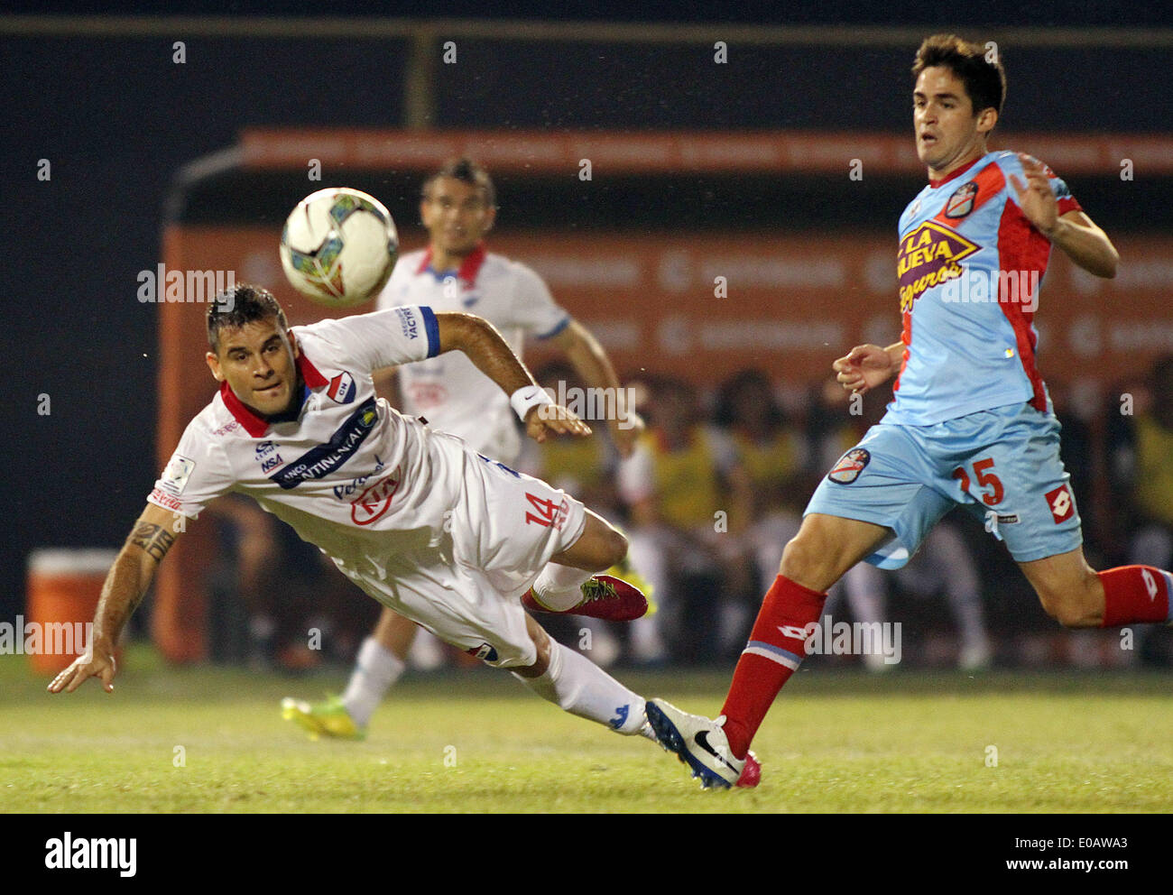
[[[391,212],[373,196],[331,187],[301,199],[282,231],[282,267],[293,289],[330,307],[378,294],[399,258]]]

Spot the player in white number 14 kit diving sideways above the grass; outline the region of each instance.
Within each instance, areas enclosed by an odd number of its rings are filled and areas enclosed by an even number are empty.
[[[647,734],[644,700],[524,611],[534,592],[574,610],[591,572],[623,558],[623,535],[578,501],[469,450],[377,399],[373,369],[463,351],[509,394],[536,441],[590,428],[554,405],[493,326],[398,307],[290,331],[277,300],[238,284],[209,305],[218,394],[187,427],[102,589],[90,651],[49,684],[99,677],[158,563],[212,500],[252,496],[385,605],[541,697],[623,733]],[[616,582],[617,602],[642,595]],[[644,603],[646,609],[646,603]]]

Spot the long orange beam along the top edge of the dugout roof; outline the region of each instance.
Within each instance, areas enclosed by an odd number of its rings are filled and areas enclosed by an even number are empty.
[[[304,170],[317,158],[332,170],[430,171],[439,158],[468,155],[491,171],[575,171],[583,158],[611,174],[924,175],[908,134],[852,131],[548,131],[359,128],[246,128],[245,169]],[[1146,176],[1173,174],[1173,137],[1164,134],[998,131],[991,149],[1015,147],[1064,175],[1119,175],[1121,160]]]

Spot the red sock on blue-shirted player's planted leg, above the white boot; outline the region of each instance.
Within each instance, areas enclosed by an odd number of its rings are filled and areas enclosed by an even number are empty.
[[[745,758],[778,691],[806,657],[806,626],[819,621],[826,599],[781,575],[766,592],[721,708],[735,758]]]

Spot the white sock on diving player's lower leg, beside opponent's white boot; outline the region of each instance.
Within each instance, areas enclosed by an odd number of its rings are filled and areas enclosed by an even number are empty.
[[[561,643],[550,640],[550,667],[544,674],[523,678],[514,672],[514,677],[571,714],[605,724],[624,735],[640,732],[646,721],[642,696]]]

